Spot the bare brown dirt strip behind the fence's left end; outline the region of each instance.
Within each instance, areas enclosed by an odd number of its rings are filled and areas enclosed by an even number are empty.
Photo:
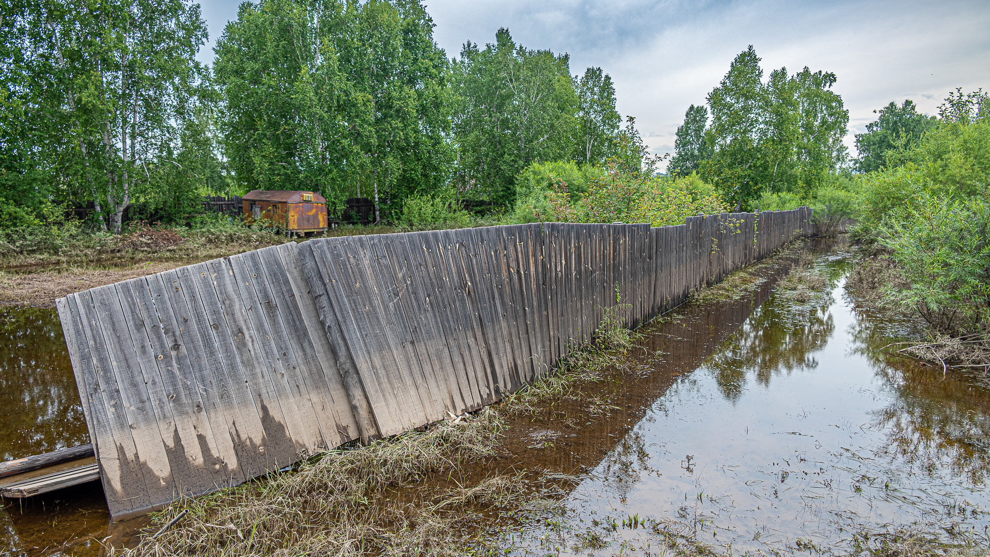
[[[147,262],[118,269],[62,269],[37,273],[0,272],[0,306],[54,307],[55,298],[128,278],[145,277],[195,262]]]

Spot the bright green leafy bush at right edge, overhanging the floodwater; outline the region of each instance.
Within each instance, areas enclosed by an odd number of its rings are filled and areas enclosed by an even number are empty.
[[[990,317],[990,206],[923,194],[880,227],[911,287],[887,298],[947,333],[984,331]]]

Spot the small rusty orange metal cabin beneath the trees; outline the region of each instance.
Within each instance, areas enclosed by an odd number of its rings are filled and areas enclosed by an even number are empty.
[[[245,221],[266,219],[288,234],[327,230],[327,199],[312,191],[255,189],[244,197]]]

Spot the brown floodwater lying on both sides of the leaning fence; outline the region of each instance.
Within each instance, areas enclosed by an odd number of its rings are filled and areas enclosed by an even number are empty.
[[[843,551],[853,532],[861,545],[863,532],[904,525],[985,532],[990,392],[878,352],[913,325],[856,309],[842,288],[848,254],[817,250],[829,284],[810,302],[775,293],[783,271],[771,271],[742,299],[650,327],[594,385],[609,407],[560,400],[510,420],[501,456],[477,474],[574,481],[562,515],[492,528],[507,552],[642,553],[660,531],[740,553]],[[4,312],[4,458],[86,442],[54,312]],[[98,483],[4,503],[0,554],[96,555],[96,540],[147,524],[108,527]],[[591,534],[607,546],[575,547]]]

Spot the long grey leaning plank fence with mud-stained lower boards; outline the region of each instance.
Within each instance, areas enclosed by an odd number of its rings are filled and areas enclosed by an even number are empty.
[[[588,342],[603,308],[639,325],[810,216],[314,239],[59,298],[110,511],[490,404]]]

